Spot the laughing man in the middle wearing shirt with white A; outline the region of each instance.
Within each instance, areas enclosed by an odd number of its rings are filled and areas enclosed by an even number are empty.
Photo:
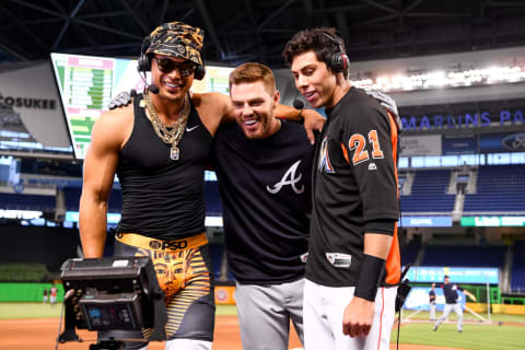
[[[215,133],[212,164],[241,338],[244,349],[285,350],[290,320],[303,340],[314,147],[302,125],[275,118],[279,91],[268,67],[237,67],[230,95],[236,122]]]

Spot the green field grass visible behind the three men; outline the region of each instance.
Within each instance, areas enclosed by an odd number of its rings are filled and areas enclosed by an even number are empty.
[[[61,304],[51,306],[42,303],[0,303],[0,319],[11,318],[49,318],[59,317]],[[218,315],[236,315],[234,305],[218,305]],[[412,313],[405,312],[402,317]],[[441,313],[438,313],[440,316]],[[486,316],[486,315],[483,315]],[[464,331],[457,332],[455,323],[442,324],[438,331],[432,331],[432,323],[427,320],[429,313],[418,313],[410,317],[415,323],[404,323],[399,337],[400,343],[416,343],[429,346],[454,347],[471,350],[523,350],[525,349],[525,316],[520,315],[491,315],[492,322],[501,325],[487,325],[482,323],[465,324]],[[456,319],[452,313],[450,320]],[[465,320],[477,318],[465,313]],[[522,325],[515,325],[520,323]],[[392,331],[392,342],[396,341],[397,329]]]

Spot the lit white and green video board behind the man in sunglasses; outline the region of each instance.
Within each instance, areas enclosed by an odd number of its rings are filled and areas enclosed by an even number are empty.
[[[113,96],[122,91],[142,91],[144,83],[137,71],[137,60],[51,54],[66,122],[77,159],[84,159],[96,119],[107,110]],[[228,78],[233,68],[207,66],[203,80],[194,81],[197,93],[229,94]]]

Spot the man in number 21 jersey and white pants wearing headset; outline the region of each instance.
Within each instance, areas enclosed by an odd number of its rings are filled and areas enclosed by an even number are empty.
[[[295,85],[327,121],[313,168],[305,349],[388,349],[400,257],[395,117],[348,80],[334,28],[284,47]]]

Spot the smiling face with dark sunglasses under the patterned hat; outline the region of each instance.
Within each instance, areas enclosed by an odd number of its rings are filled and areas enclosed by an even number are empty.
[[[195,66],[191,61],[164,55],[154,55],[151,80],[159,88],[159,96],[180,100],[194,83]]]

